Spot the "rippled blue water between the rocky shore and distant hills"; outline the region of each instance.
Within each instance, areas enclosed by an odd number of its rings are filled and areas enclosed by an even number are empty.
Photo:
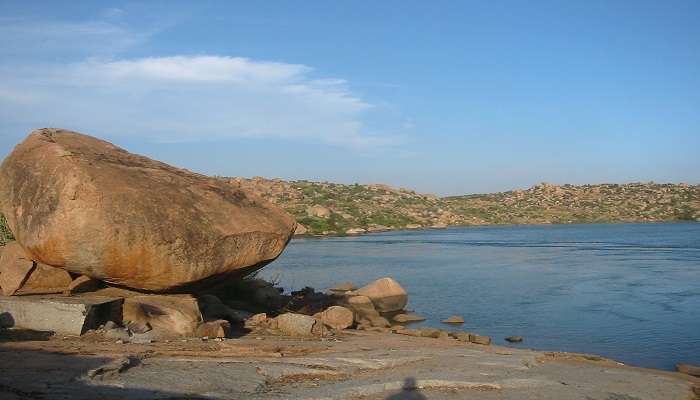
[[[491,226],[293,240],[263,277],[286,289],[394,277],[423,325],[631,365],[700,364],[700,224]],[[418,325],[420,326],[420,325]]]

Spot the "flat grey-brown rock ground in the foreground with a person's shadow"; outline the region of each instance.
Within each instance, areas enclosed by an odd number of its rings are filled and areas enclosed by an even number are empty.
[[[351,332],[118,344],[0,336],[3,399],[694,399],[700,379],[595,356]]]

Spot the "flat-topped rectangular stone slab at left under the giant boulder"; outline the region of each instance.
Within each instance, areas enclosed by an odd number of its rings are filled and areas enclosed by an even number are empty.
[[[124,299],[115,297],[0,296],[0,326],[82,335],[121,320]]]

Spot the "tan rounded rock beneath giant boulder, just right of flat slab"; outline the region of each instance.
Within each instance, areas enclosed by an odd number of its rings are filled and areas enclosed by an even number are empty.
[[[203,322],[197,300],[186,295],[127,297],[123,319],[130,323],[148,323],[154,339],[194,337]]]

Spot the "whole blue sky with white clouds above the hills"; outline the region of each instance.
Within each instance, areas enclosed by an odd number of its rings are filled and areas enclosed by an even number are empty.
[[[0,2],[0,156],[54,126],[212,175],[700,183],[700,2]]]

